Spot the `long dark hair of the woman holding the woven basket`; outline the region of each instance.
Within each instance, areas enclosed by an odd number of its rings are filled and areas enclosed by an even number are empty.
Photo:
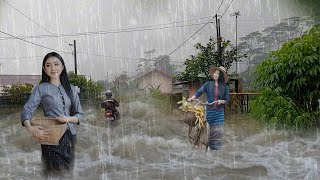
[[[58,58],[62,65],[63,65],[63,70],[60,74],[60,82],[63,86],[63,88],[65,89],[70,101],[71,101],[71,107],[70,107],[70,115],[74,115],[75,114],[75,109],[74,109],[74,98],[73,98],[73,93],[72,93],[72,89],[71,89],[71,86],[70,86],[70,81],[69,81],[69,78],[68,78],[68,74],[67,74],[67,68],[66,68],[66,65],[64,63],[64,60],[63,58],[56,52],[51,52],[51,53],[48,53],[44,58],[43,58],[43,61],[42,61],[42,79],[41,79],[41,82],[50,82],[50,77],[47,75],[47,73],[44,71],[44,68],[45,68],[45,63],[46,61],[50,58],[50,57],[56,57]]]

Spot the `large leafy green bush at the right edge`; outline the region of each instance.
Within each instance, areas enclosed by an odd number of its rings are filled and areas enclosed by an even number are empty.
[[[303,130],[319,121],[320,25],[314,26],[256,67],[259,117],[281,128]]]

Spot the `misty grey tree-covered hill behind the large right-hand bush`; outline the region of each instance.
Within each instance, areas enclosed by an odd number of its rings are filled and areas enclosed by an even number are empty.
[[[255,31],[241,37],[238,51],[247,57],[238,65],[240,77],[246,79],[248,83],[251,82],[253,77],[249,76],[254,65],[263,61],[271,51],[280,49],[283,43],[302,36],[305,31],[318,23],[320,21],[317,18],[291,17],[261,32]]]

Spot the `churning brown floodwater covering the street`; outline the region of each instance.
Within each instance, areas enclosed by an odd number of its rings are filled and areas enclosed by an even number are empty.
[[[178,112],[151,109],[122,105],[121,120],[108,125],[100,109],[85,106],[74,179],[319,179],[318,131],[290,135],[228,114],[222,149],[206,152],[190,145]],[[1,117],[0,179],[42,179],[40,145],[20,113]]]

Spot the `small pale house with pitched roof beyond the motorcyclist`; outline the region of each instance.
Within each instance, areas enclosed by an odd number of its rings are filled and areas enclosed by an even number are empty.
[[[154,69],[135,78],[140,89],[149,91],[149,88],[158,88],[164,92],[172,93],[172,77],[164,71]]]

